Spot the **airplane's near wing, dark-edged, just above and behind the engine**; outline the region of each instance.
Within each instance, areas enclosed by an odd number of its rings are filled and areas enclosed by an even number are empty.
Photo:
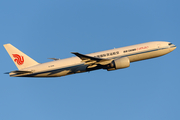
[[[79,57],[83,62],[85,62],[85,64],[88,64],[89,67],[95,67],[98,64],[107,65],[112,62],[112,59],[91,57],[88,55],[80,54],[78,52],[71,52],[71,53]]]

